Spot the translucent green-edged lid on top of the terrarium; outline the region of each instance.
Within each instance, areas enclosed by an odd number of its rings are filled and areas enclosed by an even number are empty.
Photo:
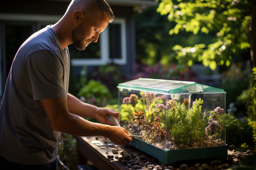
[[[146,79],[139,78],[125,83],[120,83],[118,88],[126,88],[132,90],[180,94],[180,93],[226,93],[220,88],[201,85],[195,82],[184,82],[174,80]]]

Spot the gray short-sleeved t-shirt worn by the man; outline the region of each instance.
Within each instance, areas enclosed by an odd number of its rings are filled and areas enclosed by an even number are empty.
[[[61,132],[52,130],[40,99],[67,97],[70,56],[51,26],[19,48],[0,108],[0,155],[30,165],[56,159]]]

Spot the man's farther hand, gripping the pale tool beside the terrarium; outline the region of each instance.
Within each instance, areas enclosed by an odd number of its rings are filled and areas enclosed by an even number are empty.
[[[95,119],[97,119],[100,123],[112,125],[112,122],[108,122],[108,119],[106,117],[107,114],[114,115],[117,122],[119,122],[119,112],[107,108],[98,108],[95,113]]]

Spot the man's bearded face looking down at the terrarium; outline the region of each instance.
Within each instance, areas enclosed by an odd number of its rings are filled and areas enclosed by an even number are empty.
[[[72,30],[72,40],[78,50],[84,50],[91,42],[97,42],[99,34],[107,27],[109,19],[103,14],[101,17],[85,17],[84,22],[80,23]]]

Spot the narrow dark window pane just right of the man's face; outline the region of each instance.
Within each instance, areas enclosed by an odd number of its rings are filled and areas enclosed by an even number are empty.
[[[122,58],[121,56],[121,24],[109,24],[109,48],[110,58]]]

